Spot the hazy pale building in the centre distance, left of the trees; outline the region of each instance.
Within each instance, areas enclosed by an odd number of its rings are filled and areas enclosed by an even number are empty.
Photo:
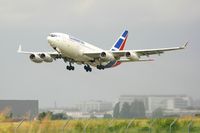
[[[91,100],[77,104],[77,108],[81,112],[107,112],[112,110],[112,103],[105,101]]]

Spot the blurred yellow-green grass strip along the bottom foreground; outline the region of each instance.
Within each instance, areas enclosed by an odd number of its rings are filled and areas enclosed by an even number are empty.
[[[24,121],[17,133],[169,133],[174,118],[150,119],[83,119],[52,121]],[[188,133],[191,117],[180,118],[172,127],[172,133]],[[130,121],[132,123],[130,124]],[[150,126],[151,123],[152,127]],[[1,120],[0,133],[14,133],[20,122]],[[67,123],[63,130],[64,125]],[[127,128],[127,126],[129,127]],[[151,128],[150,128],[151,127]],[[151,129],[151,130],[150,130]],[[194,118],[190,133],[200,133],[200,118]]]

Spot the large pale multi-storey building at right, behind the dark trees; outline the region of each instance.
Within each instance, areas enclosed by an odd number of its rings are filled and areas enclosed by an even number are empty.
[[[131,104],[135,100],[144,103],[147,114],[151,114],[158,108],[173,112],[192,105],[191,98],[186,95],[121,95],[119,98],[120,108],[125,102]]]

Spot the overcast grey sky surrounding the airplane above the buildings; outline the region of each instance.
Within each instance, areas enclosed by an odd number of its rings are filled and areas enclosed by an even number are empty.
[[[0,0],[0,99],[38,99],[40,107],[72,106],[90,99],[115,101],[121,94],[187,94],[200,98],[199,0]],[[52,51],[46,37],[66,32],[110,49],[124,29],[126,49],[187,49],[86,73],[65,70],[62,60],[35,64],[28,51]]]

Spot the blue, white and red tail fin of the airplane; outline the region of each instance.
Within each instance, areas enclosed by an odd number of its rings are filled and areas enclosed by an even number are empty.
[[[111,51],[124,50],[127,38],[128,38],[128,30],[124,30],[124,32],[121,34],[121,36],[118,38],[118,40],[115,42],[115,44],[112,46],[110,50]]]

